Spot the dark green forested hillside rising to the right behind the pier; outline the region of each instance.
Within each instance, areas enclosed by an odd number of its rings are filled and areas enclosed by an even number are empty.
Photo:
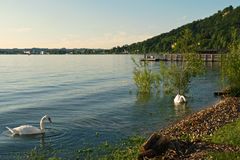
[[[197,20],[186,24],[168,33],[155,36],[143,42],[133,43],[128,46],[117,47],[110,52],[121,53],[129,51],[132,54],[149,52],[181,52],[181,49],[172,48],[177,39],[184,30],[191,31],[191,38],[188,39],[188,46],[193,50],[216,50],[224,52],[228,49],[231,40],[231,31],[229,28],[236,28],[238,35],[240,19],[240,7],[233,8],[229,6],[218,13],[203,20]],[[197,45],[195,45],[197,44]]]

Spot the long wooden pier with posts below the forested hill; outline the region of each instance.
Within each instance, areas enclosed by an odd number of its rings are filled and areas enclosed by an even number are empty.
[[[220,62],[223,54],[198,54],[205,62]],[[141,61],[183,61],[182,54],[147,54]],[[151,58],[148,58],[151,57]]]

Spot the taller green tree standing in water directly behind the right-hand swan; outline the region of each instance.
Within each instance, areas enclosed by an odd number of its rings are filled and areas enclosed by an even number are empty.
[[[160,67],[160,79],[167,92],[185,94],[188,91],[192,77],[204,71],[204,63],[196,53],[191,53],[196,48],[196,43],[191,39],[191,31],[186,29],[176,42],[176,47],[181,51],[183,61],[180,64],[171,64]]]

